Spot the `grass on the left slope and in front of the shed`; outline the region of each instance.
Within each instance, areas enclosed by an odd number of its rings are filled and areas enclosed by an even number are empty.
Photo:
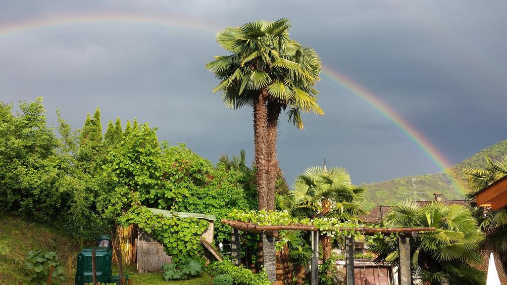
[[[43,226],[0,212],[0,285],[17,284],[19,281],[30,284],[24,270],[24,257],[28,251],[42,248],[57,253],[66,278],[67,256],[75,257],[80,252],[79,242],[62,237]],[[116,264],[113,267],[116,267]],[[76,258],[74,258],[73,268],[76,270]],[[118,274],[118,270],[115,271]],[[75,273],[74,271],[72,275],[73,280]],[[135,285],[209,285],[212,279],[211,276],[203,274],[190,280],[164,281],[159,273],[138,274],[135,266],[124,270],[124,274],[129,274]],[[53,284],[63,284],[63,282],[53,282]]]

